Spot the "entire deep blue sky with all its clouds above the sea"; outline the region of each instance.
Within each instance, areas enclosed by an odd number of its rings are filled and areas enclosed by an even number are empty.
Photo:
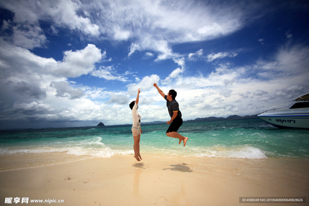
[[[309,91],[307,1],[0,2],[0,129],[184,120],[289,107]]]

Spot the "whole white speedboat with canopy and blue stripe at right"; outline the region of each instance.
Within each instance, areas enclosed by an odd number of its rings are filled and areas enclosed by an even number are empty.
[[[279,108],[262,112],[262,120],[278,128],[309,128],[309,93],[294,99],[289,109]]]

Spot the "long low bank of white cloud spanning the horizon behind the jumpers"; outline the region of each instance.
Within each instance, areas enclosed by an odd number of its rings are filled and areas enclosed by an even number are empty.
[[[298,48],[298,49],[296,49]],[[281,55],[288,57],[294,56],[296,53],[302,54],[303,47],[295,49],[283,49],[276,56],[276,63],[273,65],[283,65]],[[175,59],[178,65],[183,65],[181,59]],[[289,106],[290,100],[297,97],[298,93],[305,93],[306,86],[305,77],[307,77],[307,65],[304,63],[303,69],[298,69],[298,72],[303,72],[299,79],[299,85],[290,84],[291,76],[287,73],[278,76],[272,80],[254,79],[250,75],[252,66],[247,67],[231,67],[231,65],[218,65],[216,70],[210,75],[204,77],[202,75],[195,77],[182,77],[174,79],[173,82],[168,82],[167,85],[159,86],[163,92],[169,89],[175,89],[178,93],[177,101],[180,103],[180,110],[184,120],[195,119],[197,117],[208,116],[229,116],[229,115],[252,115],[260,113],[271,108],[280,108]],[[270,62],[259,62],[256,70],[265,68],[265,65]],[[276,70],[271,67],[269,69]],[[145,76],[142,80],[136,83],[127,85],[127,94],[134,100],[137,95],[137,89],[141,88],[140,93],[140,112],[143,121],[166,120],[169,118],[163,98],[158,94],[153,87],[153,83],[158,83],[160,80],[156,74]],[[226,81],[234,81],[233,84],[226,85]],[[294,80],[295,82],[295,80]],[[289,85],[290,84],[290,85]],[[184,85],[184,86],[183,86]],[[289,86],[285,86],[289,85]],[[68,85],[67,85],[68,86]],[[89,88],[92,90],[91,88]],[[91,91],[89,91],[91,92]],[[97,96],[95,95],[97,93]],[[131,122],[129,107],[125,102],[129,102],[129,98],[124,94],[116,94],[112,91],[104,89],[95,89],[94,97],[100,97],[100,93],[104,93],[107,98],[111,98],[107,103],[95,103],[90,99],[85,99],[87,96],[82,96],[81,99],[57,98],[55,101],[53,96],[47,95],[44,102],[31,103],[15,103],[10,109],[2,112],[1,120],[7,120],[6,116],[14,115],[14,120],[28,120],[33,118],[33,121],[91,121],[100,120],[106,124],[125,124]],[[65,96],[66,93],[63,93]],[[90,93],[89,93],[90,94]],[[59,93],[59,95],[61,95]],[[69,93],[67,94],[69,97]],[[128,101],[129,100],[129,101]],[[121,104],[124,105],[121,105]],[[53,105],[56,104],[56,105]],[[198,110],[198,111],[197,111]],[[117,121],[114,117],[117,116]]]

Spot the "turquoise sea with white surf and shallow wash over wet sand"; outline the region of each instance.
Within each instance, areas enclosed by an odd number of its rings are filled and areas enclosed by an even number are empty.
[[[184,123],[186,146],[167,124],[142,124],[140,153],[153,157],[308,158],[309,130],[279,129],[260,119]],[[0,171],[87,158],[133,156],[131,125],[0,131]]]

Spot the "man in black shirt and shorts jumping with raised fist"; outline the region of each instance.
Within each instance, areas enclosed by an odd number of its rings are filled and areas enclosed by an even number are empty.
[[[156,83],[154,83],[154,86],[155,88],[157,88],[159,94],[166,100],[167,110],[171,116],[171,120],[166,122],[167,124],[171,124],[166,131],[166,135],[168,137],[178,138],[179,144],[181,143],[181,141],[184,141],[184,146],[185,146],[188,140],[188,137],[184,137],[177,132],[177,130],[182,125],[182,118],[181,118],[181,112],[179,110],[179,104],[175,100],[177,96],[177,92],[171,89],[168,91],[167,95],[165,95],[163,91],[157,86]]]

